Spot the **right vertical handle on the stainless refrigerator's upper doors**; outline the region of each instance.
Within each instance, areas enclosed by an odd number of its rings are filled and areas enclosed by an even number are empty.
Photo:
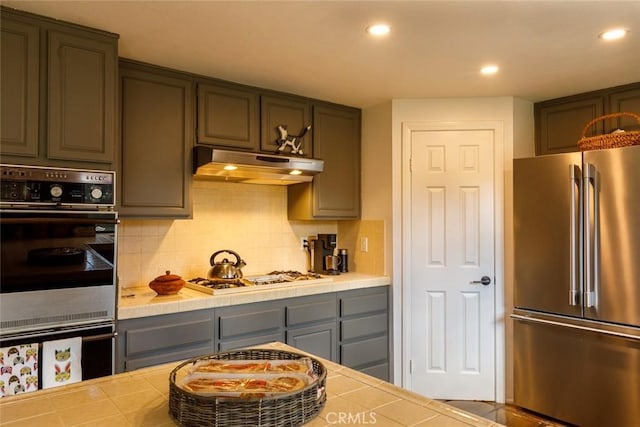
[[[598,191],[596,186],[596,168],[590,163],[584,164],[584,304],[585,307],[595,307],[598,257]],[[593,193],[593,194],[592,194]]]

